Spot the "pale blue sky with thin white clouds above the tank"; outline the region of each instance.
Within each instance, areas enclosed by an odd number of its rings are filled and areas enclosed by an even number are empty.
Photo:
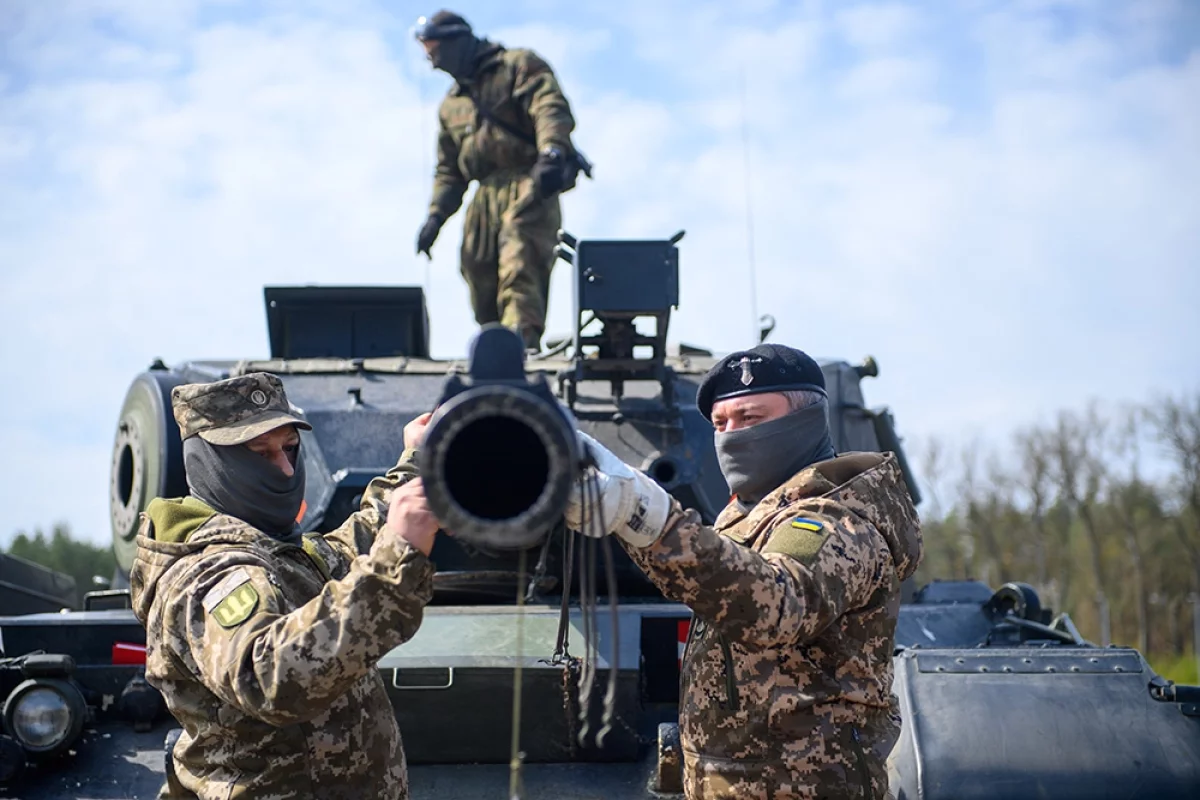
[[[268,354],[265,284],[422,285],[475,330],[462,213],[418,258],[437,7],[0,2],[0,546],[108,541],[130,381]],[[553,66],[576,236],[680,242],[671,338],[857,362],[910,441],[1200,387],[1200,4],[466,1]],[[548,336],[570,331],[556,269]]]

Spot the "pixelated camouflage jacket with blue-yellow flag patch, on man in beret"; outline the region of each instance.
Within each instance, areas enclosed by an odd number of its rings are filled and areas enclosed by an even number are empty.
[[[689,800],[886,796],[900,582],[922,555],[894,455],[808,467],[714,528],[677,506],[658,542],[626,549],[694,612],[679,702]]]

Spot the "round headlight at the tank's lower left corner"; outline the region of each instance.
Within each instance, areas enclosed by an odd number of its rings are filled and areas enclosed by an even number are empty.
[[[35,678],[12,690],[4,704],[4,724],[28,752],[54,756],[79,738],[86,714],[78,688],[65,680]]]

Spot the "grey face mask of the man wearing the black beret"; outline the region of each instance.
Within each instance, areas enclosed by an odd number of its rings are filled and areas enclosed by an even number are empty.
[[[756,505],[809,464],[833,458],[827,401],[769,422],[716,433],[716,458],[730,491]]]

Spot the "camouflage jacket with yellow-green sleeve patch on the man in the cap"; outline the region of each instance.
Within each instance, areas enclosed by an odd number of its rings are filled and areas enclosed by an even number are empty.
[[[355,513],[302,547],[196,498],[151,501],[130,576],[146,627],[146,680],[184,728],[187,792],[160,796],[408,796],[400,730],[376,663],[408,640],[432,596],[433,565],[377,539],[406,451]]]

